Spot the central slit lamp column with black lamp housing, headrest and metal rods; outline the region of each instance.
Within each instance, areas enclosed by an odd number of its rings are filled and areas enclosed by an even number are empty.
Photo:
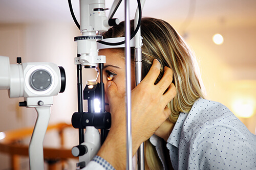
[[[110,26],[118,25],[118,19],[113,19],[113,15],[119,7],[121,0],[114,1],[110,11],[109,18],[105,16],[104,0],[80,0],[80,26],[77,22],[69,0],[72,17],[80,29],[82,36],[75,37],[77,42],[77,84],[78,84],[78,112],[72,116],[72,125],[79,130],[79,145],[72,148],[72,154],[79,156],[77,169],[85,167],[89,161],[97,154],[100,144],[104,142],[111,125],[110,113],[104,112],[104,85],[102,82],[102,67],[105,63],[105,56],[98,56],[98,50],[103,48],[125,47],[126,59],[126,120],[127,120],[127,163],[126,169],[132,169],[132,132],[131,132],[131,46],[135,47],[135,65],[136,65],[136,85],[141,81],[141,45],[140,21],[141,4],[138,0],[138,8],[135,17],[135,31],[130,35],[129,1],[125,1],[125,37],[103,39],[101,32],[109,29]],[[142,1],[142,6],[144,6]],[[136,34],[137,33],[137,34]],[[135,36],[136,35],[136,36]],[[135,36],[135,37],[134,37]],[[132,40],[130,41],[130,37]],[[88,100],[88,112],[83,112],[82,107],[82,81],[81,67],[93,68],[98,65],[101,75],[100,83],[90,82],[83,90],[83,99]],[[96,113],[94,110],[94,99],[99,97],[101,102],[101,111]],[[97,116],[97,121],[95,116]],[[97,124],[95,126],[95,124]],[[83,134],[83,129],[86,132]],[[97,129],[101,129],[99,134]],[[100,137],[101,135],[101,137]],[[100,142],[101,138],[101,142]],[[144,169],[144,145],[138,151],[138,169]]]

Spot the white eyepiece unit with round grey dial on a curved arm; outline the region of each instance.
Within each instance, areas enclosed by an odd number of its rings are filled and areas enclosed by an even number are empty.
[[[66,88],[65,70],[54,63],[10,64],[9,58],[0,56],[0,90],[8,90],[9,98],[24,97],[19,106],[35,108],[37,119],[29,143],[31,170],[44,169],[42,143],[50,119],[53,96]]]

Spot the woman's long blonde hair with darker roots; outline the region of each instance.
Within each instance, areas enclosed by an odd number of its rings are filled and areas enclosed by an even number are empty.
[[[131,21],[131,26],[133,25],[134,20]],[[103,37],[124,37],[123,28],[123,22],[121,22],[118,26],[114,26],[103,33]],[[133,27],[131,32],[132,30],[134,30]],[[158,59],[161,63],[160,75],[156,83],[163,76],[164,66],[173,70],[173,83],[176,86],[177,95],[167,106],[171,111],[169,120],[175,123],[180,112],[188,113],[198,98],[204,98],[194,64],[194,55],[175,29],[161,19],[142,18],[141,36],[143,37],[142,77],[146,76],[154,59]],[[145,157],[148,168],[161,169],[161,162],[156,159],[157,153],[152,149],[153,145],[149,141],[145,142],[145,144]],[[154,160],[155,163],[153,162]]]

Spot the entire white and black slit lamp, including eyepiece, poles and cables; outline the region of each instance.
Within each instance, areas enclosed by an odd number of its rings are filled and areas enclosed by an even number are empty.
[[[102,68],[105,56],[99,56],[98,50],[103,48],[125,47],[126,61],[126,131],[127,160],[126,169],[132,169],[132,135],[131,135],[131,46],[135,47],[136,85],[141,81],[141,46],[140,36],[141,11],[145,1],[137,0],[138,8],[135,15],[135,30],[130,35],[129,1],[124,1],[125,37],[103,39],[101,33],[111,26],[118,25],[119,20],[113,18],[121,0],[115,0],[110,9],[109,17],[105,16],[104,0],[80,0],[80,25],[76,20],[71,0],[68,0],[72,17],[81,32],[74,40],[77,42],[77,96],[78,111],[72,115],[72,125],[78,129],[79,145],[72,148],[72,154],[79,157],[77,169],[86,167],[97,154],[100,145],[108,135],[111,127],[111,114],[104,108],[104,84]],[[100,82],[88,81],[83,89],[82,67],[99,70]],[[19,106],[34,107],[37,120],[29,145],[30,169],[44,169],[44,153],[42,142],[50,118],[50,107],[53,96],[63,92],[66,87],[65,70],[53,63],[22,63],[10,64],[8,57],[0,56],[0,89],[7,89],[9,98],[24,97]],[[83,89],[83,90],[82,90]],[[83,111],[83,100],[88,101],[88,111]],[[96,111],[95,101],[100,103]],[[84,133],[84,129],[86,132]],[[100,129],[100,133],[99,130]],[[138,152],[138,169],[144,169],[144,145]]]

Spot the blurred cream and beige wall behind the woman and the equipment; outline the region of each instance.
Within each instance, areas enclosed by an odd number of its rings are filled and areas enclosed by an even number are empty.
[[[72,3],[79,19],[79,1]],[[106,1],[106,7],[112,3]],[[136,2],[131,1],[131,18],[135,7]],[[120,8],[116,17],[123,20],[123,7]],[[196,54],[206,99],[226,105],[252,133],[256,127],[255,9],[256,2],[252,0],[149,0],[142,13],[164,19],[176,28]],[[216,33],[224,38],[221,45],[212,41]],[[53,62],[66,70],[66,91],[54,96],[50,124],[70,124],[77,111],[73,38],[79,35],[66,1],[0,2],[0,55],[8,56],[11,64],[16,63],[16,57],[22,57],[23,62]],[[83,75],[84,80],[91,79],[95,72],[83,71]],[[35,110],[18,107],[21,101],[22,98],[9,99],[7,90],[0,90],[0,131],[34,126]],[[76,133],[69,133],[72,144],[78,144]],[[55,143],[52,145],[57,147],[57,141],[46,137],[45,144]],[[8,155],[0,153],[0,170],[10,169],[9,161]],[[28,169],[27,158],[22,163],[22,169]]]

